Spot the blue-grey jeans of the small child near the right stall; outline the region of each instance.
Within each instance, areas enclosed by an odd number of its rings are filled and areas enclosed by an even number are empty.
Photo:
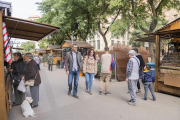
[[[147,99],[148,88],[149,88],[149,90],[151,92],[151,95],[152,95],[153,99],[156,100],[156,97],[155,97],[155,94],[154,94],[154,86],[153,86],[152,82],[145,82],[144,83],[144,90],[145,90],[144,98]]]

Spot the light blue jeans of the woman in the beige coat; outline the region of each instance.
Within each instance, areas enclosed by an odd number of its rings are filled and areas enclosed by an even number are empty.
[[[85,73],[85,77],[86,77],[86,88],[89,88],[89,91],[91,91],[94,73]]]

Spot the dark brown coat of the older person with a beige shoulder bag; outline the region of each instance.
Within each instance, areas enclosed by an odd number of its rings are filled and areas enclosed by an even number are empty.
[[[32,59],[27,63],[26,69],[24,70],[25,81],[35,79],[34,86],[41,84],[41,77],[36,62]],[[37,75],[37,76],[36,76]]]

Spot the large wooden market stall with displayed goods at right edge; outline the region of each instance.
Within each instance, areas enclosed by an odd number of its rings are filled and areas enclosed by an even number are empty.
[[[180,18],[148,35],[136,41],[156,42],[155,91],[180,96]]]

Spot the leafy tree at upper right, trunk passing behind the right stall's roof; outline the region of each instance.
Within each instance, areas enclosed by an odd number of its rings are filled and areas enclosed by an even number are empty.
[[[125,26],[119,26],[123,31],[128,31],[129,27],[140,29],[144,33],[151,33],[157,27],[159,19],[164,18],[164,12],[172,8],[180,10],[179,0],[113,0],[112,6],[123,6],[121,10],[122,21]],[[148,24],[147,19],[151,18]],[[128,21],[125,22],[125,21]],[[144,25],[148,24],[148,28]],[[127,27],[128,26],[128,27]],[[117,26],[118,27],[118,26]],[[153,43],[149,44],[151,59],[154,62]]]

